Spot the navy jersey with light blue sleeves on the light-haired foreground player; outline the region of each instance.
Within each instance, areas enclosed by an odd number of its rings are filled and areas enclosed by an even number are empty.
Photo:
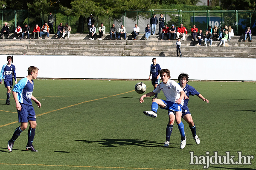
[[[34,81],[24,77],[16,85],[14,85],[12,91],[17,93],[17,97],[20,103],[25,105],[32,105],[31,97],[34,89]]]

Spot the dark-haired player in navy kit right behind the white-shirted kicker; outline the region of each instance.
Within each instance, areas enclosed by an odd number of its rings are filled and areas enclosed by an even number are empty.
[[[179,83],[180,87],[183,88],[183,91],[185,92],[185,100],[184,100],[184,105],[182,108],[182,116],[181,117],[184,120],[186,120],[186,122],[188,122],[189,128],[193,135],[193,139],[195,139],[195,143],[200,144],[200,139],[198,138],[196,131],[195,131],[195,123],[193,122],[191,113],[189,112],[189,108],[188,108],[189,96],[196,95],[200,99],[202,99],[204,102],[207,102],[207,103],[209,103],[209,100],[205,99],[204,96],[202,96],[200,93],[198,93],[198,91],[195,90],[195,88],[193,88],[191,85],[187,84],[189,82],[188,74],[184,74],[184,73],[180,74],[178,77],[178,80],[180,82]]]

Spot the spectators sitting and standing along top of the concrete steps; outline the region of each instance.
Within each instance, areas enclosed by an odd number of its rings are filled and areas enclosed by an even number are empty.
[[[54,34],[53,30],[53,23],[55,23],[55,18],[52,15],[52,12],[49,12],[48,16],[48,22],[40,28],[38,24],[35,25],[32,34],[33,38],[35,39],[37,36],[37,39],[42,39],[42,36],[45,35],[45,39],[49,39],[49,34]],[[90,14],[90,17],[87,18],[87,26],[89,30],[89,39],[90,40],[96,40],[96,31],[97,28],[94,26],[95,19],[93,17],[93,14]],[[164,40],[164,37],[166,36],[166,40],[177,40],[180,38],[180,40],[185,40],[186,35],[188,34],[187,29],[183,26],[183,24],[180,24],[179,27],[175,27],[174,24],[169,28],[167,25],[164,25],[165,23],[165,17],[163,17],[163,14],[160,14],[160,18],[158,19],[156,15],[154,14],[150,19],[150,24],[147,24],[145,27],[145,38],[144,40],[148,40],[150,35],[155,35],[155,31],[157,28],[157,24],[159,24],[159,32],[158,37],[161,38],[161,40]],[[27,23],[24,24],[25,26],[21,28],[19,25],[15,28],[14,37],[13,39],[16,39],[20,37],[20,40],[24,38],[24,36],[27,36],[27,39],[29,39],[29,31],[30,27]],[[162,30],[162,31],[161,31]],[[99,39],[102,40],[102,36],[106,34],[106,27],[103,23],[98,28],[99,31]],[[70,38],[70,32],[71,32],[71,26],[68,25],[68,23],[65,24],[65,26],[60,23],[60,25],[57,28],[57,33],[55,34],[55,39],[65,39],[65,35],[67,34],[67,40]],[[7,38],[9,37],[9,26],[7,26],[7,23],[3,26],[1,30],[1,38],[3,38],[3,34],[7,34]],[[120,28],[116,28],[115,24],[112,24],[112,27],[110,28],[110,40],[121,40],[123,37],[124,40],[128,37],[128,34],[126,33],[126,29],[123,25],[121,25]],[[140,34],[140,27],[135,24],[133,31],[131,32],[132,40],[137,40],[137,36]],[[209,26],[204,32],[202,30],[198,30],[196,26],[194,25],[191,28],[191,36],[192,40],[196,41],[198,40],[199,46],[201,46],[201,42],[204,42],[204,45],[207,46],[207,42],[209,42],[209,46],[212,46],[212,41],[220,41],[218,46],[225,46],[225,42],[230,41],[231,37],[234,36],[234,30],[231,28],[231,26],[224,26],[221,28],[218,28],[217,26],[214,26],[213,28]],[[244,42],[247,41],[252,42],[252,33],[250,30],[250,27],[247,27],[247,29],[244,32]],[[177,39],[176,39],[177,38]]]

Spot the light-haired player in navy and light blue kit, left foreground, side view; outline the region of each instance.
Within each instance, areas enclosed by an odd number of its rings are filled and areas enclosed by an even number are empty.
[[[8,141],[8,150],[12,152],[12,147],[15,140],[20,136],[20,133],[23,132],[29,122],[28,130],[28,143],[26,145],[26,150],[31,150],[32,152],[38,152],[33,146],[34,136],[35,136],[35,110],[32,106],[31,99],[38,105],[38,108],[41,108],[41,103],[32,95],[34,89],[34,81],[38,77],[38,68],[30,66],[28,68],[28,76],[21,79],[18,84],[14,85],[12,89],[13,98],[16,102],[16,108],[18,112],[18,118],[20,126],[17,127],[13,133],[12,139]]]

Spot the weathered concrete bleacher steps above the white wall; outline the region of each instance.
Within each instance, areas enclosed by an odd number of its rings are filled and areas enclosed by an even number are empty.
[[[104,38],[107,39],[109,35]],[[130,35],[129,35],[130,36]],[[51,36],[50,36],[51,37]],[[0,40],[0,51],[6,55],[90,55],[90,56],[165,56],[175,57],[174,40],[160,41],[157,35],[148,40],[86,40],[87,35],[71,35],[70,40],[58,40],[52,35],[49,40]],[[143,37],[143,36],[141,36]],[[189,36],[188,36],[189,38]],[[128,38],[129,39],[129,38]],[[198,46],[198,41],[181,41],[183,57],[256,57],[256,42],[241,42],[235,36],[226,47]]]

